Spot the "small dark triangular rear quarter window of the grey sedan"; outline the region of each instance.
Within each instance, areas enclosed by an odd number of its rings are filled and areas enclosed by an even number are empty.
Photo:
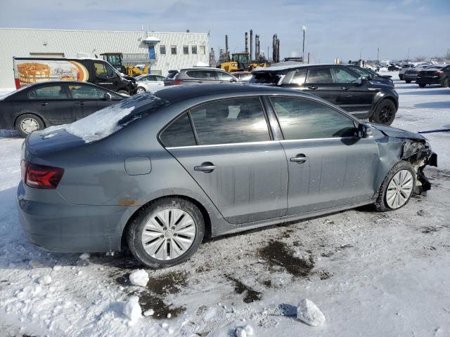
[[[188,114],[172,121],[160,134],[160,140],[165,147],[195,145],[195,137]]]

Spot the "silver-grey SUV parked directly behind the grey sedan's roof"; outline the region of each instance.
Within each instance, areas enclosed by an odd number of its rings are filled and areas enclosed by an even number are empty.
[[[225,70],[217,68],[185,68],[181,70],[169,70],[167,78],[164,80],[165,86],[176,84],[207,84],[237,82],[238,79]]]

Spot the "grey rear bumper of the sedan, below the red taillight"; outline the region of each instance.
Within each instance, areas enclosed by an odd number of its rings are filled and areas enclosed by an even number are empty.
[[[49,204],[23,199],[23,191],[20,182],[19,219],[32,244],[60,253],[120,251],[127,207]]]

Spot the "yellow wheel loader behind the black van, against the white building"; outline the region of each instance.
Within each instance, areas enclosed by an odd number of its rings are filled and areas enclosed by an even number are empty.
[[[122,74],[129,76],[148,74],[147,54],[103,53],[100,55]]]

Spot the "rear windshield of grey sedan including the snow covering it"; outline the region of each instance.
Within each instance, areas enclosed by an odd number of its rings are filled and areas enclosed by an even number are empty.
[[[85,143],[91,143],[108,137],[131,122],[147,117],[160,107],[169,104],[169,101],[151,93],[143,93],[98,110],[72,124],[45,128],[40,135],[45,138],[50,134],[57,134],[58,131],[65,131],[82,138]]]

